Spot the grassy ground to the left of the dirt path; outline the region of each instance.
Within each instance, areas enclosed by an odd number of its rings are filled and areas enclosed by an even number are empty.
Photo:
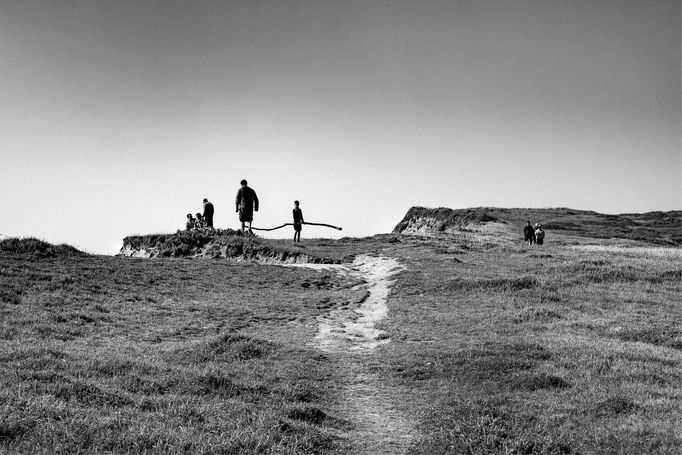
[[[0,257],[0,453],[320,453],[331,275],[187,259]],[[301,414],[299,411],[303,410]],[[311,411],[313,410],[313,411]]]

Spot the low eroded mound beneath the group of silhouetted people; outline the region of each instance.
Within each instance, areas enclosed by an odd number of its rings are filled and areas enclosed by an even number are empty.
[[[123,239],[123,247],[118,255],[143,258],[227,258],[286,263],[340,262],[339,259],[314,255],[232,229],[128,236]]]

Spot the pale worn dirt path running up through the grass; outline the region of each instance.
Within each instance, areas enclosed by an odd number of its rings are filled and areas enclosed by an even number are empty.
[[[367,299],[354,310],[334,309],[318,317],[318,331],[312,344],[327,353],[339,355],[347,365],[352,382],[343,390],[342,405],[334,410],[338,417],[352,423],[352,429],[339,432],[352,446],[353,454],[399,455],[407,453],[413,440],[413,422],[407,410],[400,408],[400,394],[375,374],[366,371],[363,358],[390,342],[376,323],[387,317],[386,300],[393,281],[403,270],[392,258],[359,256],[350,265],[312,265],[320,270],[335,270],[362,278],[369,292]]]

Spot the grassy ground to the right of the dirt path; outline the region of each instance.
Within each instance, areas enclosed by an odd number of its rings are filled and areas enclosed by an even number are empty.
[[[443,241],[409,242],[376,366],[420,396],[412,453],[679,451],[679,249]]]

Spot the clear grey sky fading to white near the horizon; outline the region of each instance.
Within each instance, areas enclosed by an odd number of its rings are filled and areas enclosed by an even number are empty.
[[[682,208],[679,0],[0,0],[0,234]],[[269,237],[286,238],[278,230]]]

